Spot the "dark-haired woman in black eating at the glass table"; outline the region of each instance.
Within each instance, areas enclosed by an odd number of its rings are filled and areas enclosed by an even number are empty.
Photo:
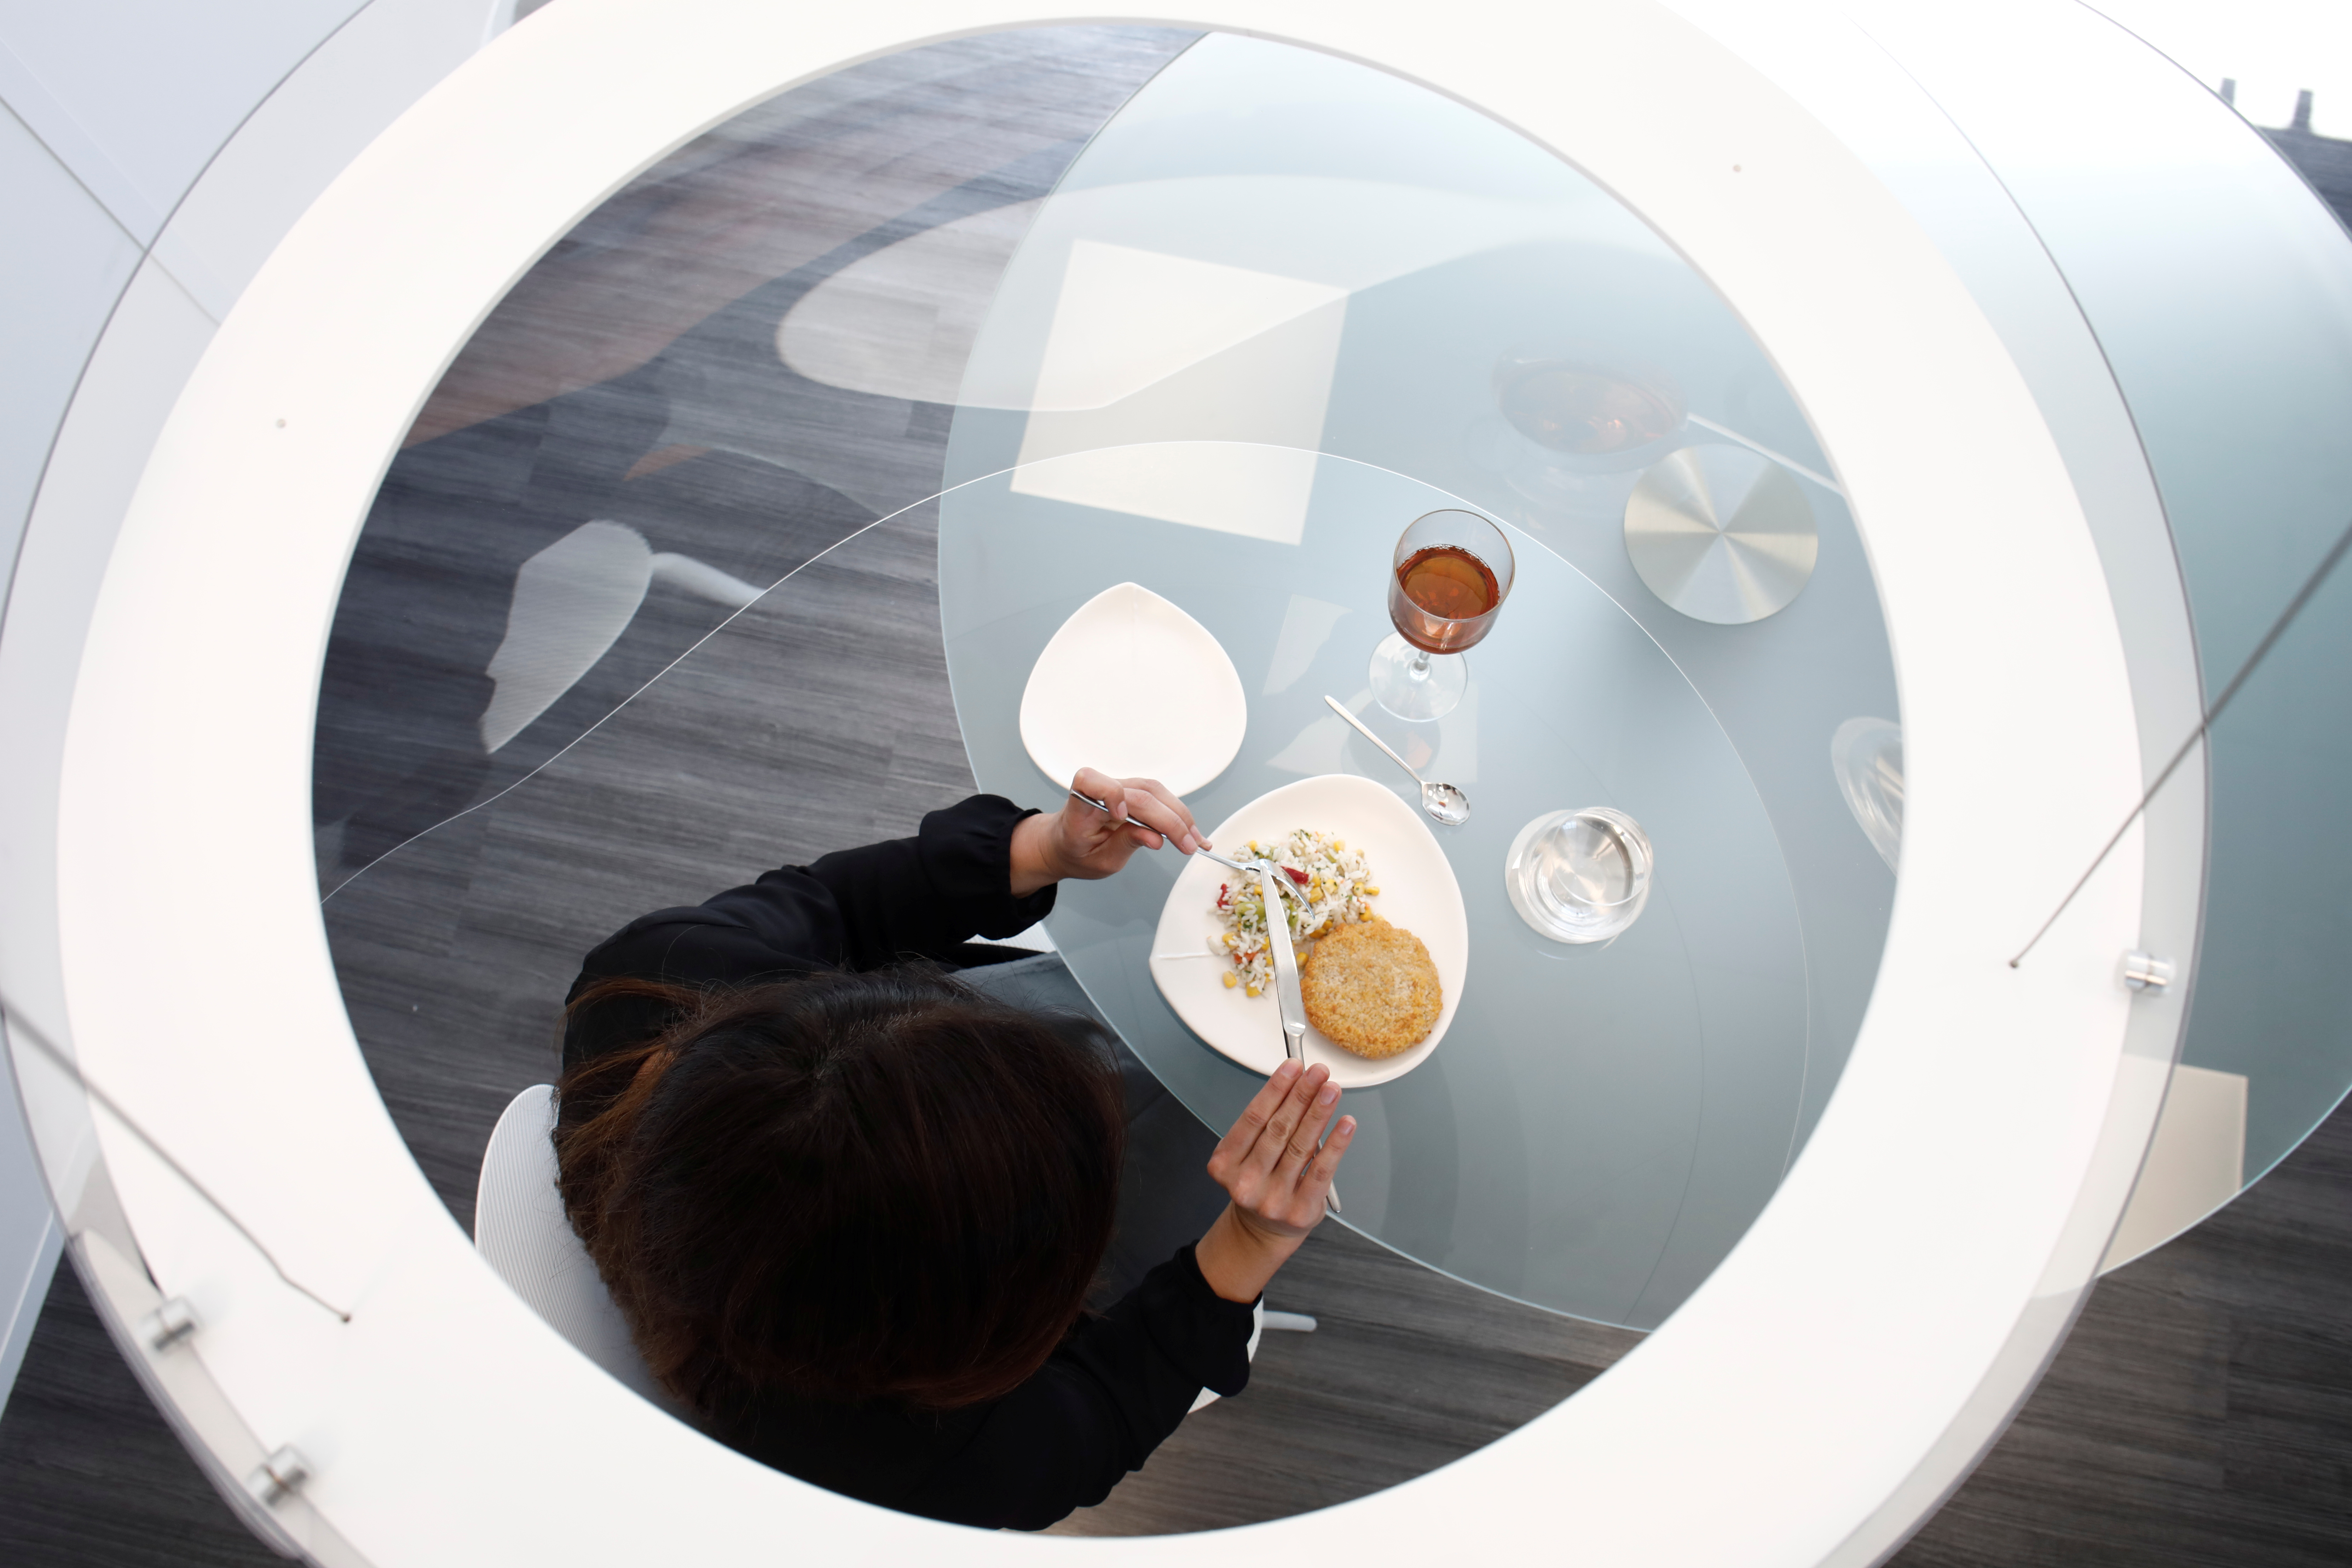
[[[1110,816],[974,795],[913,839],[635,919],[572,987],[564,1208],[661,1385],[764,1465],[1033,1530],[1249,1380],[1251,1305],[1355,1133],[1327,1070],[1265,1084],[1209,1159],[1216,1222],[1089,1314],[1124,1128],[1110,1041],[938,969],[1035,924],[1063,877],[1207,844],[1150,780],[1077,788]]]

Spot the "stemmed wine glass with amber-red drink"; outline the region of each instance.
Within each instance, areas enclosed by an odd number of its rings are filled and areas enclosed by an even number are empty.
[[[1374,701],[1416,724],[1454,712],[1470,686],[1461,651],[1494,630],[1510,576],[1510,538],[1486,517],[1458,508],[1416,517],[1390,562],[1397,632],[1371,651]]]

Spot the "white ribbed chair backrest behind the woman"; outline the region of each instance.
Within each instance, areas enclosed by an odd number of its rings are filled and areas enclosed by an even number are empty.
[[[499,1279],[574,1349],[687,1420],[687,1410],[654,1382],[628,1338],[628,1321],[612,1305],[588,1248],[572,1232],[555,1190],[555,1086],[532,1084],[515,1095],[482,1152],[482,1182],[473,1199],[473,1246]]]

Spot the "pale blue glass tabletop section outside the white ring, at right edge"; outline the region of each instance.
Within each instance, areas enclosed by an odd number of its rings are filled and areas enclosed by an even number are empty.
[[[1999,174],[2112,367],[2218,696],[2352,515],[2338,440],[2352,421],[2352,242],[2274,146],[2136,35],[2056,7],[2030,59],[2020,42],[1938,31],[1905,63]],[[1997,92],[1978,68],[1992,54]],[[2096,118],[2086,80],[2103,87]],[[2209,889],[2169,1133],[2206,1126],[2206,1161],[2227,1161],[2234,1133],[2239,1185],[2352,1088],[2336,997],[2352,830],[2326,783],[2352,769],[2347,651],[2352,614],[2331,583],[2194,759],[2211,792]]]

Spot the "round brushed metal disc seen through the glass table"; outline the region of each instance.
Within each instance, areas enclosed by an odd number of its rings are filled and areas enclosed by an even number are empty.
[[[1684,447],[1625,501],[1625,555],[1693,621],[1748,625],[1813,578],[1820,534],[1797,480],[1745,447]]]

